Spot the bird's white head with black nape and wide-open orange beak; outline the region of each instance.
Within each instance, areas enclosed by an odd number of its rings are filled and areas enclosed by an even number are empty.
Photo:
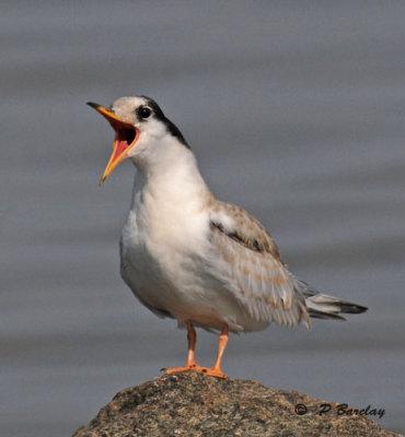
[[[91,102],[88,105],[105,117],[115,131],[113,154],[100,184],[126,157],[147,174],[159,164],[170,165],[170,160],[185,151],[190,154],[182,132],[149,97],[120,97],[109,108]]]

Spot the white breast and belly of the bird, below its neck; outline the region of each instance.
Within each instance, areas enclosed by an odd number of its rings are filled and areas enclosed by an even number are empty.
[[[121,275],[151,310],[221,329],[235,303],[207,273],[212,194],[199,175],[183,185],[173,177],[135,193],[121,235]]]

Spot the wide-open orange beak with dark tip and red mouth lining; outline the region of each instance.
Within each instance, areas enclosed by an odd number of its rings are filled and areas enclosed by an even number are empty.
[[[113,172],[113,169],[128,156],[128,151],[138,141],[140,131],[131,123],[121,120],[109,108],[92,102],[88,102],[88,105],[100,113],[109,122],[115,131],[113,153],[109,157],[107,166],[105,167],[103,177],[100,179],[99,185],[101,186]]]

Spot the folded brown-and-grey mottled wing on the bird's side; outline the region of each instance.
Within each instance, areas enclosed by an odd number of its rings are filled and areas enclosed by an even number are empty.
[[[216,201],[210,239],[240,304],[257,320],[309,324],[305,299],[264,226],[242,208]],[[219,264],[216,270],[219,270]]]

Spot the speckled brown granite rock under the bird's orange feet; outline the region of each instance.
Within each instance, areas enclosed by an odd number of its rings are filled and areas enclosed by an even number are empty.
[[[185,373],[120,391],[73,437],[400,436],[366,415],[338,415],[336,403],[320,415],[323,403],[254,381]]]

